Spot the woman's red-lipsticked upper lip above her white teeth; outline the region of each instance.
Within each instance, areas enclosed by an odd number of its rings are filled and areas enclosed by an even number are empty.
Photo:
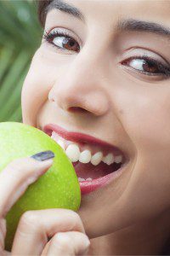
[[[92,145],[99,146],[101,148],[105,148],[108,151],[114,152],[115,155],[122,154],[122,150],[117,148],[114,145],[111,145],[110,143],[106,143],[99,138],[92,137],[90,135],[76,132],[76,131],[66,131],[63,127],[60,127],[59,125],[54,124],[48,124],[45,125],[42,128],[42,131],[47,133],[49,136],[51,136],[52,131],[55,131],[60,137],[65,138],[65,140],[72,141],[75,143],[88,143]]]

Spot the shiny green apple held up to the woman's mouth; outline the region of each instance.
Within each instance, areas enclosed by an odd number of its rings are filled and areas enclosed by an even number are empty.
[[[0,123],[0,172],[14,159],[46,150],[55,154],[53,165],[28,187],[6,216],[5,249],[8,251],[11,250],[14,233],[23,212],[49,208],[77,211],[81,203],[81,190],[71,160],[51,137],[31,125]]]

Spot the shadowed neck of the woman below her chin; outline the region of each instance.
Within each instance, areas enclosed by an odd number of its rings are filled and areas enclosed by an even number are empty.
[[[159,255],[170,237],[170,213],[164,212],[106,236],[91,239],[90,255]]]

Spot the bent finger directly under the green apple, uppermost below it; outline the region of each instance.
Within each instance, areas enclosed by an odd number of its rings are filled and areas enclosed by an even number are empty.
[[[41,255],[48,239],[59,231],[85,233],[82,220],[68,209],[47,209],[25,212],[20,218],[14,236],[12,253],[16,255]]]

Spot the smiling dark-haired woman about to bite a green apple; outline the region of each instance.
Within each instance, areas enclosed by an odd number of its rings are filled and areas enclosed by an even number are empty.
[[[82,203],[78,212],[26,212],[12,255],[168,254],[170,2],[46,0],[39,17],[44,35],[22,90],[23,122],[57,133],[69,157],[68,145],[78,146]],[[7,187],[19,197],[51,164],[14,160],[3,172]],[[18,166],[26,172],[14,180]],[[5,216],[16,199],[2,188]]]

